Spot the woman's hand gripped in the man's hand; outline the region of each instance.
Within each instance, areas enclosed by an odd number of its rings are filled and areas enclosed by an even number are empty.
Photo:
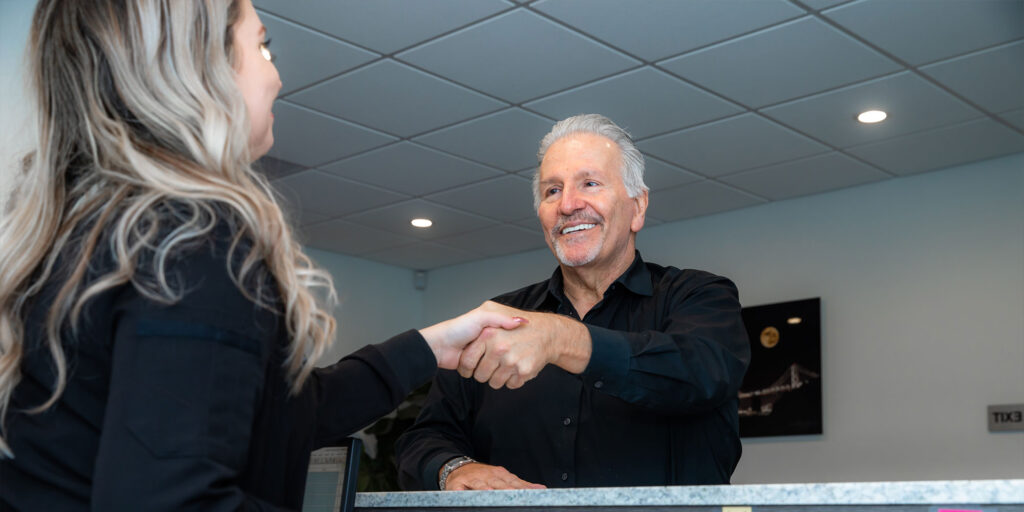
[[[459,367],[462,349],[480,336],[484,329],[515,329],[527,321],[505,312],[485,311],[486,302],[465,314],[420,330],[427,345],[437,358],[437,368],[455,370]]]

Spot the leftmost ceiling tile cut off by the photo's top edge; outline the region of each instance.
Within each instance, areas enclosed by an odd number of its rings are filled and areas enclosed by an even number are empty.
[[[502,0],[254,0],[253,4],[381,53],[408,48],[512,5]]]

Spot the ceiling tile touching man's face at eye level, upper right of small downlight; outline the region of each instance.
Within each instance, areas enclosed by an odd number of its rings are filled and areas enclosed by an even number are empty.
[[[536,215],[529,180],[509,175],[427,196],[435,203],[497,220],[512,221]]]

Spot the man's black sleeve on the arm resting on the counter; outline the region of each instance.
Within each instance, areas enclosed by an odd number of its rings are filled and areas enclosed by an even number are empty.
[[[473,457],[471,386],[475,382],[452,370],[437,372],[416,423],[395,442],[402,489],[437,490],[437,472],[444,462]]]

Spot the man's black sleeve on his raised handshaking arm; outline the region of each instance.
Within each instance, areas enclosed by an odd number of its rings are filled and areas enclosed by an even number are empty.
[[[667,415],[688,415],[735,398],[751,359],[735,285],[698,272],[674,287],[657,329],[587,326],[593,340],[585,382]]]

